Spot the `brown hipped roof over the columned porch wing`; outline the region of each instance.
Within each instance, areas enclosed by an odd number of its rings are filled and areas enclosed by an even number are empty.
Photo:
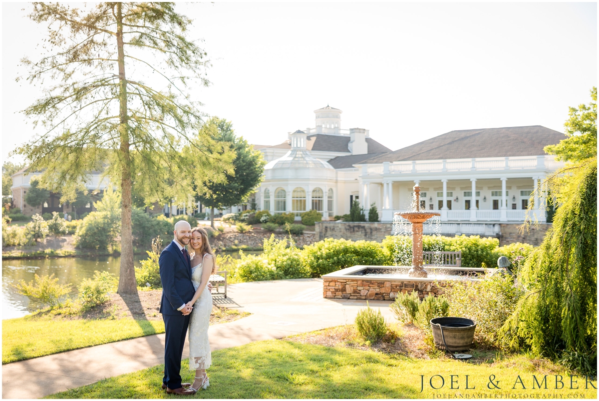
[[[367,162],[536,156],[545,154],[543,147],[565,138],[561,132],[540,125],[464,129],[374,156]]]

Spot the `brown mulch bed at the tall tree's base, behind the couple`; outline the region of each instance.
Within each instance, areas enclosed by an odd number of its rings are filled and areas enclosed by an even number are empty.
[[[71,319],[135,319],[162,320],[160,300],[162,290],[138,291],[137,295],[110,294],[110,301],[78,315],[67,315]],[[210,324],[231,322],[249,315],[237,309],[212,306]]]

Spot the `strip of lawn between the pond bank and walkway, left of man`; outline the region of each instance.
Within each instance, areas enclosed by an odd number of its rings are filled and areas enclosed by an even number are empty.
[[[7,319],[2,321],[2,364],[159,333],[164,333],[162,320]]]

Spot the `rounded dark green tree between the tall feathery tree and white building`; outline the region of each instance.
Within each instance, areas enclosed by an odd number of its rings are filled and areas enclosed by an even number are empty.
[[[202,127],[205,135],[210,135],[222,144],[222,149],[234,150],[233,170],[226,174],[225,182],[215,182],[212,177],[200,177],[196,182],[198,197],[207,207],[211,207],[210,225],[214,228],[214,209],[234,206],[247,201],[252,191],[262,181],[262,173],[266,162],[262,153],[254,150],[244,140],[237,137],[231,122],[212,117]]]

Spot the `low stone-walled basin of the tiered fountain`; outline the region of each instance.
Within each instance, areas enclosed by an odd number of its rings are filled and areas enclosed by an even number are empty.
[[[497,269],[425,266],[428,277],[407,275],[412,266],[352,266],[322,276],[323,297],[329,299],[393,301],[398,293],[418,291],[420,298],[440,292],[453,281],[482,281]]]

